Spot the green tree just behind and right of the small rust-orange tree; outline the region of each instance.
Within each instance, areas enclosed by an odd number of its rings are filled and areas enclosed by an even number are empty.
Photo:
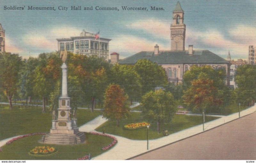
[[[141,91],[141,78],[132,65],[115,64],[112,67],[112,83],[120,85],[131,100],[137,98]]]

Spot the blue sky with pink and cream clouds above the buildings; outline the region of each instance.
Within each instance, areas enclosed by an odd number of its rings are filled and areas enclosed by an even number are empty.
[[[0,24],[5,30],[5,51],[23,58],[58,50],[57,40],[79,36],[82,30],[111,39],[109,53],[126,58],[140,51],[170,50],[170,25],[177,0],[0,0]],[[248,58],[248,46],[256,46],[256,0],[180,0],[186,24],[185,49],[209,50],[224,59]],[[53,10],[28,10],[54,7]],[[59,10],[59,6],[68,10]],[[81,6],[82,10],[71,10]],[[84,10],[91,7],[93,10]],[[117,7],[119,11],[95,10]],[[122,6],[147,7],[148,11],[124,11]],[[163,8],[151,11],[151,6]],[[24,10],[8,10],[9,8]]]

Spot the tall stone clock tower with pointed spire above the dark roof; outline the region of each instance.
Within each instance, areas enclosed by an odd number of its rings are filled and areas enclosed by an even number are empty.
[[[171,25],[171,50],[185,51],[186,25],[184,24],[184,11],[178,1],[173,10],[173,20]]]

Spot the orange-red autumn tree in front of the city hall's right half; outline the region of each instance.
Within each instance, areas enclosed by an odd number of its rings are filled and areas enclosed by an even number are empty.
[[[184,92],[184,102],[192,110],[205,111],[222,103],[218,98],[218,90],[212,79],[206,73],[201,72],[198,79],[191,81],[191,86]]]

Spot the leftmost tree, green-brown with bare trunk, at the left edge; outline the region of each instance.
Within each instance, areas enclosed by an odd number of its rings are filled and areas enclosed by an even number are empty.
[[[17,92],[20,79],[22,60],[19,54],[0,53],[0,85],[5,96],[7,96],[10,109],[12,109],[12,97]]]

